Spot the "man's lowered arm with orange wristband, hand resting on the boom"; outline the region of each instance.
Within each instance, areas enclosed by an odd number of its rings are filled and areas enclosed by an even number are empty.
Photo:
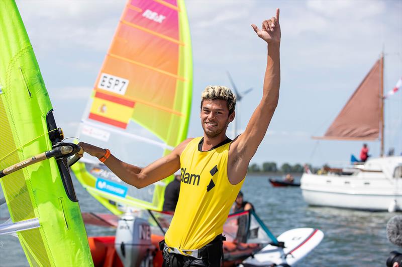
[[[180,154],[188,144],[191,138],[184,140],[173,151],[148,166],[140,168],[126,162],[121,161],[112,154],[104,162],[108,168],[113,171],[121,180],[128,184],[134,185],[137,188],[142,188],[154,182],[160,181],[163,178],[172,175],[180,168]],[[93,146],[87,143],[78,143],[84,152],[91,156],[100,158],[105,155],[105,149]]]

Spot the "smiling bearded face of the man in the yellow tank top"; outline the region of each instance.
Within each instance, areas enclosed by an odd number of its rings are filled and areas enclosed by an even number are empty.
[[[235,113],[229,115],[226,100],[206,99],[201,107],[201,124],[205,134],[210,137],[217,137],[222,132],[226,133],[229,122],[235,118]]]

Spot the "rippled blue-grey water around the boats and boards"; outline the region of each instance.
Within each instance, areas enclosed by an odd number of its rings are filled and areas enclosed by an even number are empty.
[[[107,212],[75,179],[74,184],[83,212]],[[384,266],[390,251],[402,252],[387,240],[385,232],[387,221],[396,213],[309,207],[300,188],[271,187],[265,176],[250,175],[242,191],[275,235],[297,227],[315,227],[324,232],[323,241],[298,266]],[[0,207],[1,218],[9,216],[5,206]],[[114,232],[88,226],[87,233],[96,236]],[[28,265],[17,238],[2,235],[0,246],[0,266]]]

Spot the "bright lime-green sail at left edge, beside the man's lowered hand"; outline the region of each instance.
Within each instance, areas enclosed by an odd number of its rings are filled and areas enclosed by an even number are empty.
[[[52,148],[52,105],[17,5],[0,1],[0,169]],[[48,133],[51,131],[50,133]],[[13,223],[32,266],[92,266],[84,223],[65,162],[28,166],[0,179]],[[5,264],[5,262],[2,262]]]

